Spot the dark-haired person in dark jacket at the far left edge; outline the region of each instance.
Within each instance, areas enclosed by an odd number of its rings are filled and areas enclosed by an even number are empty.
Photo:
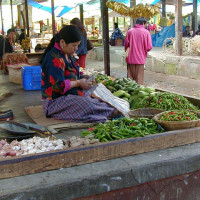
[[[5,53],[12,53],[13,52],[13,39],[15,37],[15,30],[14,29],[9,29],[7,31],[7,37],[1,40],[0,43],[0,58]]]

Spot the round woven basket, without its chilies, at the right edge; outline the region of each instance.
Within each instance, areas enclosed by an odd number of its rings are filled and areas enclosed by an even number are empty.
[[[165,111],[165,112],[159,113],[155,115],[153,118],[158,124],[160,124],[167,131],[194,128],[194,127],[200,126],[200,119],[191,120],[191,121],[161,121],[159,120],[160,116],[163,113],[167,113],[167,112],[171,112],[171,111]],[[192,111],[192,110],[190,110],[190,112],[196,113],[198,117],[200,118],[200,112]]]

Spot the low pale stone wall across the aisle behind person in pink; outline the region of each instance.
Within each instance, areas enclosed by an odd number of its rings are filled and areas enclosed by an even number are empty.
[[[87,59],[103,61],[103,47],[95,47],[88,52]],[[110,48],[110,62],[126,66],[124,47]],[[145,64],[146,70],[200,79],[200,56],[176,56],[151,50]]]

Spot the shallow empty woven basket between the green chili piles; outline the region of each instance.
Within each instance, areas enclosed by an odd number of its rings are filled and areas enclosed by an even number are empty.
[[[153,118],[156,114],[163,112],[164,110],[156,109],[156,108],[140,108],[140,109],[134,109],[129,111],[129,116],[131,118]]]

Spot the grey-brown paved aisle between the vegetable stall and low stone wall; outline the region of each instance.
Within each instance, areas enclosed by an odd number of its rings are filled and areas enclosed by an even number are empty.
[[[111,76],[126,77],[126,66],[112,62],[110,65]],[[103,61],[88,59],[86,61],[86,67],[96,71],[103,71],[104,63]],[[145,70],[144,75],[145,85],[147,86],[200,98],[200,80],[183,76],[167,75],[148,70]]]

